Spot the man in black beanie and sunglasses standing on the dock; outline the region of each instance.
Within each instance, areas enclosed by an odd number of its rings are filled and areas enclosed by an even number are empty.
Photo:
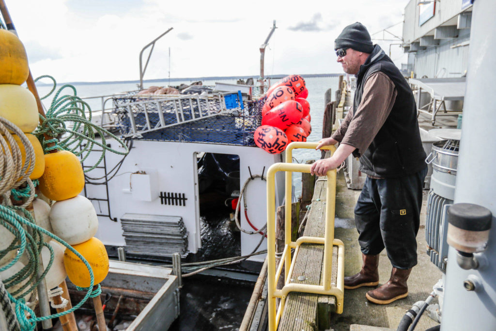
[[[362,251],[362,270],[344,278],[346,289],[379,284],[379,253],[385,248],[391,277],[366,298],[389,304],[408,295],[407,280],[417,264],[416,235],[422,189],[427,173],[417,106],[410,86],[391,59],[373,45],[367,28],[348,25],[335,40],[337,62],[357,77],[354,105],[339,129],[320,140],[317,149],[340,142],[327,159],[313,163],[311,173],[324,176],[351,153],[367,174],[355,206]]]

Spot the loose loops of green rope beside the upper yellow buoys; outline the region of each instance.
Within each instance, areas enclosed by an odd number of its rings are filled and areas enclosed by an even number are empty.
[[[56,90],[57,82],[55,78],[49,75],[40,76],[35,79],[35,82],[42,78],[49,78],[54,84],[52,90],[41,98],[45,99]],[[62,92],[64,90],[69,90],[69,93],[63,94]],[[40,123],[42,124],[38,126],[33,134],[41,141],[45,153],[55,149],[63,149],[81,157],[81,162],[84,162],[88,158],[95,145],[101,147],[100,158],[93,166],[86,168],[84,172],[95,169],[102,162],[107,150],[119,155],[129,153],[129,149],[124,144],[124,141],[115,134],[91,123],[91,117],[90,106],[77,96],[75,87],[70,84],[64,84],[55,93],[52,103],[46,112],[46,117],[40,115]],[[51,139],[46,139],[45,134],[50,136]],[[101,142],[95,139],[97,134],[102,139]],[[116,139],[124,147],[125,151],[121,152],[107,146],[105,136]],[[56,143],[56,145],[50,146],[53,143]]]

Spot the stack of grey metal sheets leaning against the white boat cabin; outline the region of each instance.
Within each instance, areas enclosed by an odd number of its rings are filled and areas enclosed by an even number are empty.
[[[187,232],[182,217],[126,213],[121,217],[121,224],[127,254],[187,255]]]

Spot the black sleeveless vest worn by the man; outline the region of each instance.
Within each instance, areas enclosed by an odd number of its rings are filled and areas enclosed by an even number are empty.
[[[399,69],[377,45],[357,74],[353,108],[358,109],[362,100],[364,82],[376,71],[381,71],[391,78],[397,95],[391,113],[370,146],[360,156],[360,170],[368,175],[383,178],[414,174],[427,166],[426,153],[420,138],[415,98]]]

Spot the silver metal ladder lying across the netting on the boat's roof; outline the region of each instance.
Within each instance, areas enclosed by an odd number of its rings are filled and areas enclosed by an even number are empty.
[[[135,99],[136,96],[133,96],[132,101],[115,105],[129,119],[130,131],[124,137],[140,137],[144,133],[244,110],[241,91],[207,96],[195,94]],[[138,123],[138,116],[144,117],[144,122],[141,120]]]

